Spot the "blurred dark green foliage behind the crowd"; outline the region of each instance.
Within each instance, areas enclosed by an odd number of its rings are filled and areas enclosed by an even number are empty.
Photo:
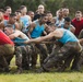
[[[38,4],[44,4],[46,10],[51,11],[54,15],[61,7],[69,8],[71,15],[73,15],[76,10],[83,11],[83,0],[0,0],[0,8],[10,5],[13,11],[23,4],[32,11],[36,11]]]

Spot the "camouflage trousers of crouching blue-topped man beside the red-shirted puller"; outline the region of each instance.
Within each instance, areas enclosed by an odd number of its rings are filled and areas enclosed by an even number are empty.
[[[17,69],[29,69],[29,55],[32,52],[31,46],[16,46],[15,48],[15,58],[16,58],[16,66]]]

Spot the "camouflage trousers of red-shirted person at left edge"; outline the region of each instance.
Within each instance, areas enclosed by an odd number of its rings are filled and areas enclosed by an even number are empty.
[[[4,71],[9,70],[9,65],[11,59],[13,58],[14,46],[10,44],[5,44],[0,46],[0,69],[4,69]]]

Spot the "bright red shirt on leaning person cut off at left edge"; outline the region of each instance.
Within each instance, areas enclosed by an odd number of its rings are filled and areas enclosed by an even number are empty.
[[[0,45],[10,44],[14,45],[13,42],[0,30]]]

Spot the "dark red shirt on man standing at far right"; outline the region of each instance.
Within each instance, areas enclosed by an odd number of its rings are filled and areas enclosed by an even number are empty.
[[[76,19],[72,20],[72,24],[75,27],[75,35],[79,35],[81,30],[83,28],[83,17],[81,21],[76,21]]]

